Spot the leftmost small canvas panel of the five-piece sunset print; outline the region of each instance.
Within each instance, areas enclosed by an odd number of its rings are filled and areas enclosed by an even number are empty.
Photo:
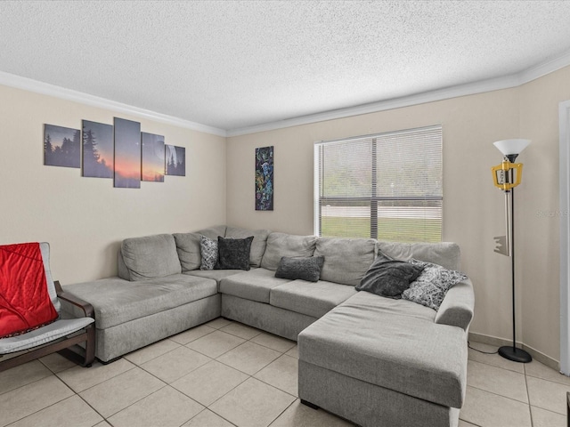
[[[44,125],[44,165],[81,167],[81,131]]]

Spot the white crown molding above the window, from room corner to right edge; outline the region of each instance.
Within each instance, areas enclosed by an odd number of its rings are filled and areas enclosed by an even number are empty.
[[[360,116],[362,114],[376,113],[385,111],[387,109],[400,109],[403,107],[411,107],[412,105],[419,105],[428,102],[444,101],[460,96],[474,95],[476,93],[493,92],[501,89],[509,89],[550,74],[560,68],[570,65],[570,52],[566,52],[553,60],[548,60],[535,65],[531,68],[526,68],[518,73],[511,74],[505,77],[496,77],[486,80],[480,80],[466,85],[455,85],[446,87],[444,89],[437,89],[426,93],[415,93],[401,98],[392,100],[372,102],[370,104],[363,104],[346,109],[336,109],[325,111],[322,113],[312,114],[302,117],[293,117],[286,120],[277,122],[265,123],[262,125],[253,125],[248,127],[241,127],[238,129],[231,129],[227,131],[227,136],[240,136],[248,133],[259,133],[265,131],[273,131],[291,126],[309,125],[311,123],[323,122],[326,120],[335,120],[338,118]]]

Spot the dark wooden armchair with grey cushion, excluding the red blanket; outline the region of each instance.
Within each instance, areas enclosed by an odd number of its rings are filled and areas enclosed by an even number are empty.
[[[59,282],[53,282],[49,267],[50,246],[48,243],[40,243],[40,249],[44,261],[48,291],[59,317],[53,323],[25,334],[1,338],[0,372],[56,351],[84,367],[91,367],[94,362],[95,319],[93,306],[88,302],[79,300],[76,296],[67,294]],[[68,318],[67,313],[61,310],[61,301],[77,307],[82,312],[83,317]],[[85,344],[83,346],[78,345],[81,342],[85,342]],[[20,354],[10,358],[6,357],[12,353]]]

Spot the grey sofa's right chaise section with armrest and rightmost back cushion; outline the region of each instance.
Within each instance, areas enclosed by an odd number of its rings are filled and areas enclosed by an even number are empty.
[[[459,246],[377,242],[400,259],[459,269]],[[362,426],[456,426],[467,384],[469,280],[440,309],[359,292],[298,335],[298,396]]]

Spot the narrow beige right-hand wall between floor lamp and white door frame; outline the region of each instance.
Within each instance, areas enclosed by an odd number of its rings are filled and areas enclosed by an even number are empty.
[[[519,92],[520,134],[533,140],[520,157],[525,173],[517,193],[523,340],[559,359],[558,104],[570,99],[570,67],[521,86]]]

